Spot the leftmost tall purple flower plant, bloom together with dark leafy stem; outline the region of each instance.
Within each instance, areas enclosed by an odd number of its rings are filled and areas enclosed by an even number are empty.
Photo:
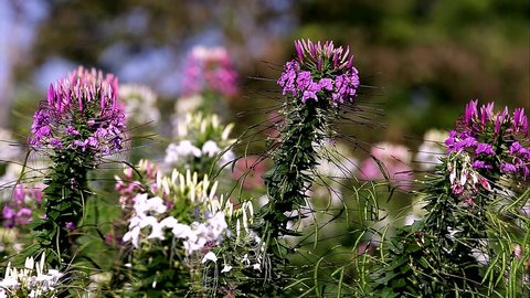
[[[121,150],[125,129],[118,81],[96,70],[80,67],[51,84],[47,100],[34,114],[30,146],[52,160],[44,179],[45,217],[34,230],[53,266],[72,256],[71,231],[81,223],[89,194],[87,172],[102,157]]]

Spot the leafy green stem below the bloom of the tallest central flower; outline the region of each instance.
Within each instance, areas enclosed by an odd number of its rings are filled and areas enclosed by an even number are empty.
[[[297,234],[287,223],[299,216],[314,182],[312,172],[318,164],[315,146],[324,141],[328,126],[326,113],[322,113],[325,108],[330,107],[324,100],[286,104],[282,138],[273,156],[274,166],[263,177],[269,199],[262,210],[264,226],[267,226],[263,233],[268,238]],[[296,211],[298,214],[294,213]],[[275,254],[282,256],[280,252]]]

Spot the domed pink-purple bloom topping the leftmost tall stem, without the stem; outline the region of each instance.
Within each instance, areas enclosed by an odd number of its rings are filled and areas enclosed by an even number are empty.
[[[47,100],[33,116],[30,145],[114,153],[121,149],[125,114],[118,103],[118,79],[78,67],[50,85]]]

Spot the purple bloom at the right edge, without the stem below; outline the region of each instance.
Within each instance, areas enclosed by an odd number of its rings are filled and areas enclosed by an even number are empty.
[[[447,153],[467,152],[475,170],[530,177],[528,117],[524,108],[509,114],[505,107],[494,113],[494,103],[478,109],[478,100],[466,106],[464,119],[445,140]]]

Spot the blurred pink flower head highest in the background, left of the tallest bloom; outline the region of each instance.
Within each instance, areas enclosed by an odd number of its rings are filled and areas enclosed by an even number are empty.
[[[234,96],[237,93],[236,78],[225,49],[195,46],[184,68],[182,93],[189,96],[212,91],[223,96]]]

